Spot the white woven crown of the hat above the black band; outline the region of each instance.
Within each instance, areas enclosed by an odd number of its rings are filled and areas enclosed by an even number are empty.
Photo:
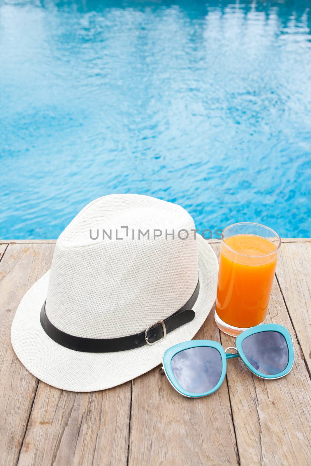
[[[48,319],[71,335],[115,338],[172,315],[198,281],[194,229],[181,206],[160,199],[114,194],[91,202],[56,242]]]

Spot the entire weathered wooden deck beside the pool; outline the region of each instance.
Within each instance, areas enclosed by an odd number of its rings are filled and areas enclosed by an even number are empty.
[[[55,242],[0,242],[1,465],[310,465],[311,240],[284,240],[266,322],[294,340],[287,377],[264,381],[238,359],[213,395],[188,399],[159,368],[107,391],[72,393],[32,376],[10,327],[25,292],[50,267]],[[219,254],[219,243],[212,241]],[[226,348],[213,312],[197,338]],[[99,368],[105,370],[105,368]]]

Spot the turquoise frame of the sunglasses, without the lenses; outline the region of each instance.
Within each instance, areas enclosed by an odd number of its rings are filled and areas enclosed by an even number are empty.
[[[254,335],[256,333],[260,332],[267,332],[267,331],[274,331],[280,333],[287,344],[288,348],[288,363],[286,368],[280,372],[279,374],[273,374],[273,375],[267,375],[263,374],[262,372],[259,372],[258,370],[253,367],[248,359],[246,358],[243,350],[242,350],[242,342],[245,340],[250,335]],[[190,348],[196,348],[199,346],[207,346],[208,348],[215,348],[219,351],[220,356],[221,356],[221,362],[222,362],[222,370],[221,370],[221,376],[219,378],[219,381],[217,384],[209,391],[206,391],[204,393],[192,393],[190,391],[185,390],[184,388],[181,387],[181,385],[178,383],[176,377],[173,374],[172,370],[172,359],[173,356],[175,356],[177,353],[180,351],[183,351],[185,349],[190,349]],[[181,395],[184,397],[188,398],[200,398],[200,397],[206,397],[207,395],[211,395],[214,393],[214,391],[218,390],[219,387],[221,386],[222,382],[224,381],[224,378],[226,376],[227,372],[227,359],[232,359],[236,357],[240,357],[242,360],[242,363],[245,364],[245,366],[257,377],[263,378],[263,379],[278,379],[281,377],[286,376],[293,367],[294,364],[294,348],[293,348],[293,341],[291,339],[290,333],[283,325],[275,324],[275,323],[269,323],[269,324],[262,324],[262,325],[256,325],[256,327],[252,327],[248,330],[245,330],[242,332],[240,335],[236,337],[235,340],[235,348],[230,347],[232,349],[236,349],[237,353],[232,354],[228,353],[226,354],[226,351],[223,349],[220,343],[214,342],[212,340],[191,340],[189,342],[183,342],[183,343],[178,343],[177,345],[172,346],[171,348],[167,349],[166,352],[163,355],[163,370],[168,378],[168,381],[170,384],[173,386],[173,388],[178,391]]]

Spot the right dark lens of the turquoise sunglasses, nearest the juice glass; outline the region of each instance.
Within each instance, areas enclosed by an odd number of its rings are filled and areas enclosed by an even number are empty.
[[[288,363],[288,348],[283,335],[274,331],[258,332],[242,341],[249,363],[262,374],[280,374]]]

